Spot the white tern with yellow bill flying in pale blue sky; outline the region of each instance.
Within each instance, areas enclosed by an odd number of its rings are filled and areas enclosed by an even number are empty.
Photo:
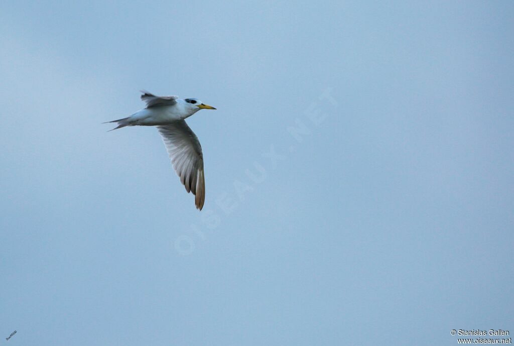
[[[141,90],[141,93],[141,100],[146,102],[145,108],[130,117],[106,123],[118,123],[113,130],[136,125],[157,126],[180,182],[186,187],[187,192],[195,195],[196,209],[201,210],[205,203],[204,157],[198,137],[184,119],[201,109],[216,108],[194,98],[179,99],[175,95],[155,96],[144,90]]]

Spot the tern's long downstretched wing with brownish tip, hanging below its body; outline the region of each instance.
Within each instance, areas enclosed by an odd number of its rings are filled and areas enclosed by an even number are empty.
[[[160,125],[157,129],[166,145],[175,172],[186,191],[195,195],[196,209],[201,210],[205,202],[205,176],[204,156],[198,137],[184,120]]]

